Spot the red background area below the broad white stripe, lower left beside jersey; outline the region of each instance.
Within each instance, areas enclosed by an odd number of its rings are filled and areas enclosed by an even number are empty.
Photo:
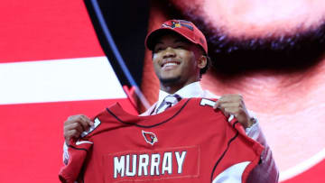
[[[116,102],[136,114],[127,98],[0,105],[0,182],[59,182],[63,122],[72,114],[94,116]]]

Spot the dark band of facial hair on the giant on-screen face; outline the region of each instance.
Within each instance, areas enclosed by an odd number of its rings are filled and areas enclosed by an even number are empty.
[[[297,25],[294,32],[265,32],[250,37],[235,36],[222,26],[209,23],[197,11],[183,12],[205,33],[213,69],[226,75],[246,71],[301,71],[319,62],[325,51],[325,18],[303,30]]]

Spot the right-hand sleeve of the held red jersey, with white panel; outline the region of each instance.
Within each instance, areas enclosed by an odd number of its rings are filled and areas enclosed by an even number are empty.
[[[225,132],[227,148],[218,159],[212,183],[248,183],[252,170],[258,165],[264,147],[246,136],[236,119],[230,121],[234,128]],[[229,166],[231,165],[231,166]]]

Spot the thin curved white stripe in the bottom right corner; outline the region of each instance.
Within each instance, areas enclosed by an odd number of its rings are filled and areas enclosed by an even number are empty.
[[[294,176],[297,176],[298,174],[311,169],[311,167],[315,166],[321,160],[325,160],[325,149],[321,150],[310,159],[302,161],[302,163],[292,167],[291,169],[287,169],[281,172],[279,181],[293,178]]]

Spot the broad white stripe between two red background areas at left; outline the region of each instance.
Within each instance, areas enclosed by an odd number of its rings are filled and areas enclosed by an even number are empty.
[[[106,57],[0,64],[0,105],[125,97]]]

